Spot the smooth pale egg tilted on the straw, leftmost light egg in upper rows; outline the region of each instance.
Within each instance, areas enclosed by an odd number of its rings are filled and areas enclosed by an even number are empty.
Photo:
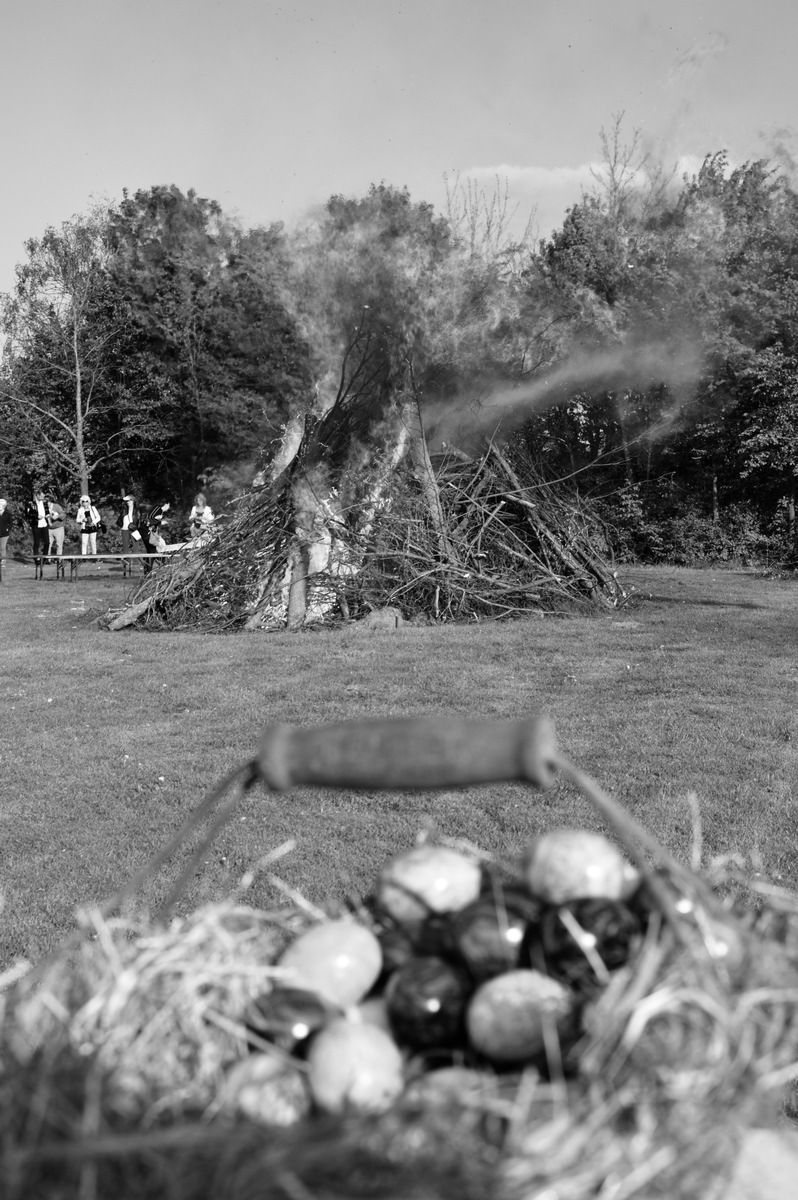
[[[286,985],[316,991],[340,1008],[356,1004],[383,966],[374,934],[354,920],[325,920],[300,934],[280,959]]]

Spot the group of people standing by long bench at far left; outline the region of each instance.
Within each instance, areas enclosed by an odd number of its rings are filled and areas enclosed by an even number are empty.
[[[116,527],[121,534],[124,554],[160,554],[167,550],[162,527],[168,523],[170,504],[164,500],[155,508],[143,510],[136,497],[126,494],[119,502]],[[202,542],[210,535],[214,524],[214,512],[199,492],[188,515],[191,538]],[[74,521],[80,533],[80,553],[97,553],[97,534],[107,533],[106,522],[90,496],[82,496],[74,514]],[[38,565],[43,558],[59,558],[64,553],[66,512],[53,496],[42,490],[34,492],[25,505],[25,522],[30,527],[34,541],[34,562]],[[8,538],[13,528],[13,518],[8,503],[0,499],[0,560],[6,558]],[[152,559],[144,559],[145,571],[151,570]]]

